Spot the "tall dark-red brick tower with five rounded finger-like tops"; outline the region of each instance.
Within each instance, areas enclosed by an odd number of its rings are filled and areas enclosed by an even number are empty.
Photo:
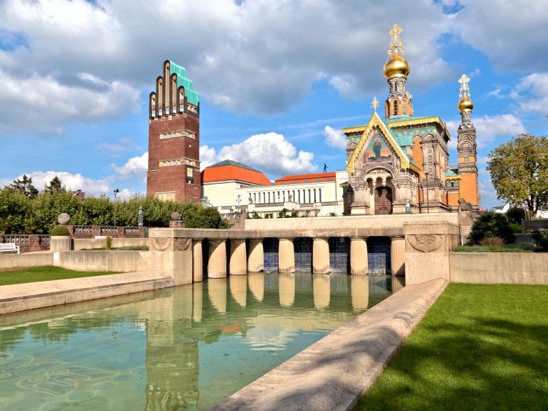
[[[186,70],[173,61],[164,61],[164,74],[149,97],[149,113],[146,195],[199,202],[199,94]]]

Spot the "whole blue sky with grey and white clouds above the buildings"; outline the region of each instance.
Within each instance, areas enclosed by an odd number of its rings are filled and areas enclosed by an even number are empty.
[[[0,0],[0,187],[55,175],[68,189],[146,193],[148,96],[164,60],[200,94],[202,168],[233,159],[270,179],[345,168],[344,127],[388,95],[394,23],[415,115],[447,123],[470,77],[479,189],[502,204],[487,154],[548,134],[545,0]]]

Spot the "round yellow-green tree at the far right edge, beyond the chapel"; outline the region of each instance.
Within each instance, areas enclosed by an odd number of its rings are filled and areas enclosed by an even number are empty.
[[[498,199],[527,209],[530,216],[548,209],[548,137],[519,134],[488,157]]]

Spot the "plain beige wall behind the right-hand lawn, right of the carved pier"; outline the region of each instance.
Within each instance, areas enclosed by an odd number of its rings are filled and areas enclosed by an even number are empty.
[[[471,284],[548,284],[548,253],[453,252],[451,282]]]

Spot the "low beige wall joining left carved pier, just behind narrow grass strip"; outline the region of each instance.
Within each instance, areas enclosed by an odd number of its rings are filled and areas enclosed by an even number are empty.
[[[148,271],[149,252],[60,251],[54,253],[53,264],[56,267],[74,269],[76,271]]]

